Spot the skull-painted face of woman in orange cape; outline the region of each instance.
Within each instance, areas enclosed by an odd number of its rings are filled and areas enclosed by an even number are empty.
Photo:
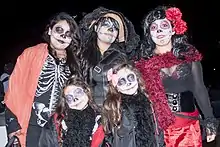
[[[64,50],[72,41],[70,27],[65,20],[59,21],[52,29],[50,28],[48,35],[50,36],[50,46],[53,49]]]

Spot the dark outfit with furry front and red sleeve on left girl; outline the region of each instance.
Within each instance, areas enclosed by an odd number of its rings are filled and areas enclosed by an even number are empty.
[[[57,114],[51,117],[42,128],[39,147],[99,147],[102,145],[104,132],[99,125],[100,116],[96,115],[91,107],[82,111],[72,110],[68,112],[68,117],[71,119],[64,119],[67,128],[61,123],[63,119],[58,121]]]

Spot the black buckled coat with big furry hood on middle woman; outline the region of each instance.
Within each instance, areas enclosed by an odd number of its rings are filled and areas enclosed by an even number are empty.
[[[119,23],[119,33],[117,40],[111,44],[107,51],[101,55],[97,50],[97,35],[94,31],[95,24],[101,17],[111,17]],[[113,67],[118,59],[132,59],[140,37],[135,32],[133,24],[120,12],[99,7],[91,13],[86,14],[79,23],[83,38],[83,57],[82,60],[88,60],[84,65],[82,62],[82,71],[86,72],[86,79],[93,88],[93,97],[98,105],[102,105],[108,90],[107,71]],[[123,61],[122,61],[123,62]],[[87,76],[87,71],[89,75]],[[83,72],[83,73],[84,73]]]

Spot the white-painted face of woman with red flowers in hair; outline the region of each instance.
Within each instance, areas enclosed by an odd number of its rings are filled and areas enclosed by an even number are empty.
[[[150,34],[154,43],[158,46],[165,46],[171,43],[171,37],[175,34],[172,26],[166,18],[154,21],[150,26]]]

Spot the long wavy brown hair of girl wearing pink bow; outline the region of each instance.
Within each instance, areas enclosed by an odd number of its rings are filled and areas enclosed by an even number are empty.
[[[142,79],[140,72],[132,64],[116,64],[116,66],[113,67],[113,74],[117,74],[117,72],[123,68],[129,69],[136,74],[139,85],[138,90],[141,93],[146,94],[144,80]],[[104,101],[102,108],[102,124],[105,134],[111,133],[114,127],[120,126],[122,116],[121,95],[122,94],[118,92],[117,88],[114,87],[110,81],[109,91],[106,95],[106,100]]]

